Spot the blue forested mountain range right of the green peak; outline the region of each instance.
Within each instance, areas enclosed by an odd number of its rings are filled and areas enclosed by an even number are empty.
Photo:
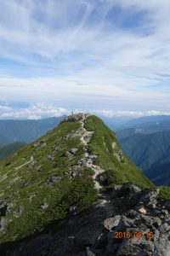
[[[147,177],[170,185],[170,116],[133,119],[116,135],[124,153]]]

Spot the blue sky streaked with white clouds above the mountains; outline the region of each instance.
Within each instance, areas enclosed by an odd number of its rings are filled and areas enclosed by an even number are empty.
[[[170,114],[167,0],[0,1],[0,119]]]

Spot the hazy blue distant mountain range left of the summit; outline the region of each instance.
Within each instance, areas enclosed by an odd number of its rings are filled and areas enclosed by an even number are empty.
[[[31,143],[59,125],[63,117],[40,120],[0,120],[0,146],[8,143]]]

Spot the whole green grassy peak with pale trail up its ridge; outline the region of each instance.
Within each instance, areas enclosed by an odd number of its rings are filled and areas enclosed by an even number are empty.
[[[20,240],[86,210],[99,189],[116,183],[152,187],[101,119],[69,116],[0,162],[0,241]]]

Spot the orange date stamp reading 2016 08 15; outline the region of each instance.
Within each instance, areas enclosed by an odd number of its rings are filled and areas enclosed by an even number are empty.
[[[147,240],[151,240],[154,239],[154,233],[153,232],[146,232],[146,233],[142,233],[142,232],[115,232],[115,238],[116,239],[122,239],[122,238],[126,238],[126,239],[130,239],[130,238],[136,238],[136,239],[142,239],[142,237],[145,237],[145,239]]]

